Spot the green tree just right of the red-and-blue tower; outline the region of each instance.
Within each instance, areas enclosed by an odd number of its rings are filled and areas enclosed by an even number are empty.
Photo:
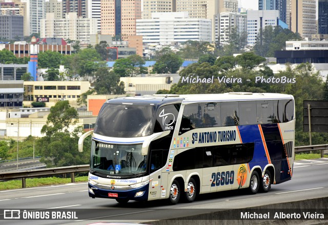
[[[59,52],[45,51],[40,52],[37,56],[37,65],[39,68],[59,68],[64,56]]]

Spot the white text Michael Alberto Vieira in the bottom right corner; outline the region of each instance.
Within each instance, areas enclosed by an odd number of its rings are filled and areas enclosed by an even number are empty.
[[[256,212],[240,212],[241,219],[324,219],[323,213],[284,213],[275,212],[274,215],[267,213],[256,213]]]

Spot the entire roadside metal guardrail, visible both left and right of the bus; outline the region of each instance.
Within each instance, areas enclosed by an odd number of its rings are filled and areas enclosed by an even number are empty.
[[[321,150],[321,157],[323,157],[323,150],[328,150],[328,144],[295,147],[295,153],[316,151],[316,150]],[[19,172],[9,172],[9,173],[2,173],[2,174],[0,173],[0,180],[22,178],[22,187],[26,188],[26,180],[25,179],[28,177],[70,173],[71,181],[73,183],[73,182],[75,182],[75,173],[88,172],[88,171],[89,171],[89,165],[56,167],[56,168],[47,168],[47,169],[39,169],[39,170],[25,170],[25,171],[19,171]]]

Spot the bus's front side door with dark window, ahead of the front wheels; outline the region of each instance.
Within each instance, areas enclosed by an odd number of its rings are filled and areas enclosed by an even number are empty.
[[[165,173],[161,172],[161,169],[165,165],[168,158],[169,150],[151,150],[150,152],[150,179],[152,181],[149,183],[149,200],[155,200],[161,198],[161,196],[165,196],[166,193],[162,193],[165,190],[162,190],[162,183],[167,182],[167,177],[163,175]],[[167,174],[166,174],[167,175]]]

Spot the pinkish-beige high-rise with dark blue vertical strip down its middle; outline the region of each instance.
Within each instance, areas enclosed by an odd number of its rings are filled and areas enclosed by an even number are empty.
[[[101,0],[101,34],[122,39],[136,35],[137,19],[141,19],[141,0]]]

